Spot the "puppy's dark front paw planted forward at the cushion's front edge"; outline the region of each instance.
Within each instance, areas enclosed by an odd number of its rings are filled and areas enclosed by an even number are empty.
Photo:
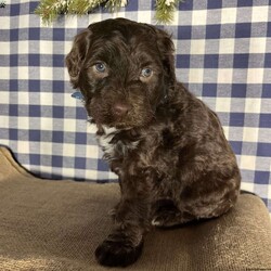
[[[100,264],[107,267],[127,267],[140,257],[143,241],[134,246],[125,235],[109,235],[95,250]]]

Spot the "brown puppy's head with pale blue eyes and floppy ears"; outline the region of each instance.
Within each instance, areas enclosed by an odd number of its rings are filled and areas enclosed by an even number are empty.
[[[173,44],[153,26],[125,18],[90,25],[75,37],[66,65],[98,125],[147,126],[176,82]]]

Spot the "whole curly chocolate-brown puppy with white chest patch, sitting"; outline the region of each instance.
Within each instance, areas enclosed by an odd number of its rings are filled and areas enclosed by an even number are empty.
[[[125,18],[91,24],[66,65],[98,141],[119,177],[114,229],[96,248],[104,266],[134,262],[152,225],[218,217],[241,176],[217,115],[176,80],[168,34]]]

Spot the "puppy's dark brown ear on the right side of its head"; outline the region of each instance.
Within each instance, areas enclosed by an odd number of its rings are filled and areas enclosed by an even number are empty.
[[[176,83],[175,74],[175,44],[171,37],[164,30],[155,28],[157,37],[157,47],[162,55],[164,68],[167,73],[169,87]]]

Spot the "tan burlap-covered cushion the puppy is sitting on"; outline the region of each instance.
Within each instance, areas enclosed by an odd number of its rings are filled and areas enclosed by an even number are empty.
[[[0,147],[0,270],[105,270],[94,249],[108,234],[118,184],[34,178]],[[271,270],[271,223],[262,201],[240,196],[223,217],[154,230],[127,270]],[[121,269],[109,269],[121,270]]]

